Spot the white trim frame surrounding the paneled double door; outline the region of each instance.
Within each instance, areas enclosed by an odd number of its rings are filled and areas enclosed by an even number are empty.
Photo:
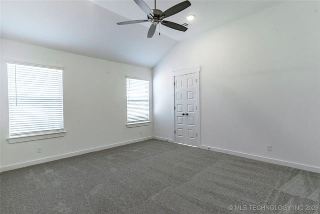
[[[201,141],[200,141],[200,66],[196,66],[196,67],[192,67],[192,68],[187,68],[187,69],[182,69],[182,70],[177,70],[177,71],[172,71],[171,72],[171,83],[172,83],[172,115],[173,115],[173,131],[172,131],[172,139],[173,142],[175,142],[175,134],[174,134],[174,130],[175,130],[175,110],[174,110],[174,99],[175,99],[175,94],[174,94],[174,77],[177,76],[182,76],[182,75],[186,75],[186,74],[193,74],[195,73],[196,76],[196,109],[195,109],[195,123],[196,123],[196,132],[197,132],[197,136],[196,136],[196,145],[197,147],[200,147]]]

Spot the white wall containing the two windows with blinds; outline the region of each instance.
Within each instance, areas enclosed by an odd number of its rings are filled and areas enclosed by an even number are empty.
[[[0,48],[0,166],[2,171],[149,139],[153,136],[152,125],[126,128],[125,76],[148,78],[151,82],[150,69],[3,39],[1,39]],[[6,140],[9,137],[9,128],[5,60],[64,68],[63,110],[66,131],[64,137],[8,143]],[[150,113],[152,115],[152,105]],[[141,135],[139,130],[142,131]],[[41,153],[36,152],[38,146],[42,147]]]

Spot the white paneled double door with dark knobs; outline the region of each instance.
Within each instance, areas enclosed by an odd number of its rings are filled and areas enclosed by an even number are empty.
[[[175,142],[198,146],[196,73],[174,76]]]

